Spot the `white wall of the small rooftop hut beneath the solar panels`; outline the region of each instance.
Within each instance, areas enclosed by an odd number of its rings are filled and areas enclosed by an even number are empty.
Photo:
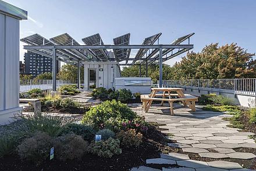
[[[96,85],[97,88],[104,87],[106,89],[115,88],[115,78],[120,77],[120,67],[117,62],[93,62],[86,61],[84,64],[84,90],[88,90],[88,71],[96,69]],[[99,71],[102,69],[103,71]]]

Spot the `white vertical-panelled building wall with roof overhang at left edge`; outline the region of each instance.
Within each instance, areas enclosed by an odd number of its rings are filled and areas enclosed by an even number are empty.
[[[19,107],[19,20],[27,12],[0,1],[0,125],[13,121]]]

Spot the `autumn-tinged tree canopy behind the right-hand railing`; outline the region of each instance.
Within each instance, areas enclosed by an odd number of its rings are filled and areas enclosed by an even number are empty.
[[[172,67],[163,64],[163,79],[216,79],[216,78],[255,78],[255,53],[232,43],[218,46],[212,43],[205,46],[201,52],[187,53],[180,62]],[[139,66],[124,67],[123,77],[139,77]],[[141,67],[145,73],[145,66]],[[148,67],[148,76],[155,82],[159,79],[159,66]]]

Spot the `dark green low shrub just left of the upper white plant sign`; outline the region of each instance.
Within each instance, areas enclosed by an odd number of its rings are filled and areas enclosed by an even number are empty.
[[[83,137],[83,139],[87,141],[93,140],[96,133],[92,126],[84,124],[70,124],[68,125],[68,130]]]

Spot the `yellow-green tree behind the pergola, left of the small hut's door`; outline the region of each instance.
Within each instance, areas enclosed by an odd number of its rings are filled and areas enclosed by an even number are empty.
[[[81,80],[84,79],[84,67],[80,67]],[[66,81],[77,81],[77,66],[64,64],[58,73],[58,78]]]

